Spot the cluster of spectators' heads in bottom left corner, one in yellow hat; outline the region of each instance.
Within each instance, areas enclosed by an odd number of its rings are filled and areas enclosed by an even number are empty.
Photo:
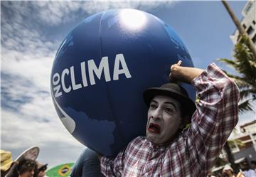
[[[18,159],[12,161],[11,152],[1,152],[1,177],[43,177],[48,164],[42,164],[33,159]]]

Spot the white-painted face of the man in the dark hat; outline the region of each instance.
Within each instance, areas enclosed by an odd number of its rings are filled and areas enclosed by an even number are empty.
[[[181,105],[171,97],[157,95],[149,105],[146,138],[161,145],[174,139],[181,124]]]

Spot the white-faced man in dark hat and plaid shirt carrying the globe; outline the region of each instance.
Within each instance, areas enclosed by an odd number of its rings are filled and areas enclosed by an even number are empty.
[[[179,61],[169,77],[171,82],[144,90],[146,136],[112,158],[86,149],[71,176],[207,175],[238,122],[238,87],[214,63],[201,70]],[[178,82],[196,87],[197,105]]]

